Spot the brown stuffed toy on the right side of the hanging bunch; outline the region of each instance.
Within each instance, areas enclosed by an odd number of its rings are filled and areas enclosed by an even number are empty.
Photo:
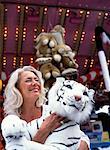
[[[57,68],[61,71],[61,75],[72,74],[75,69],[78,69],[78,64],[75,62],[75,55],[71,47],[66,44],[59,44],[52,49],[52,58]]]

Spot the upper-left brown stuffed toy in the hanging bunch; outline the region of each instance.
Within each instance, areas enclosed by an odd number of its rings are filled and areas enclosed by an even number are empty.
[[[57,45],[55,37],[50,33],[41,33],[36,38],[35,43],[36,62],[38,64],[51,62],[52,49]]]

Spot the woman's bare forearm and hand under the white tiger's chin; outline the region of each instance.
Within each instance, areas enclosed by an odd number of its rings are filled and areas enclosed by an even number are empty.
[[[33,138],[33,141],[43,144],[49,134],[62,125],[61,121],[63,121],[64,119],[64,117],[61,117],[55,113],[48,116],[42,123],[40,129]]]

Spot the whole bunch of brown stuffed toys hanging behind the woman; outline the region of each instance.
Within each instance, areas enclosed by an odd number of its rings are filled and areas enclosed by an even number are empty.
[[[44,86],[49,90],[59,76],[71,74],[78,69],[75,61],[76,52],[65,43],[65,29],[56,25],[50,32],[40,33],[35,40],[36,63],[44,79]]]

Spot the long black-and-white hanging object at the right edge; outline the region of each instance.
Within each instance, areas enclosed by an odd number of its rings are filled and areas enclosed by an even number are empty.
[[[102,69],[102,74],[105,82],[105,87],[110,92],[110,75],[107,66],[106,56],[103,48],[103,43],[110,44],[110,35],[100,26],[95,28],[95,41],[98,50],[98,57]]]

